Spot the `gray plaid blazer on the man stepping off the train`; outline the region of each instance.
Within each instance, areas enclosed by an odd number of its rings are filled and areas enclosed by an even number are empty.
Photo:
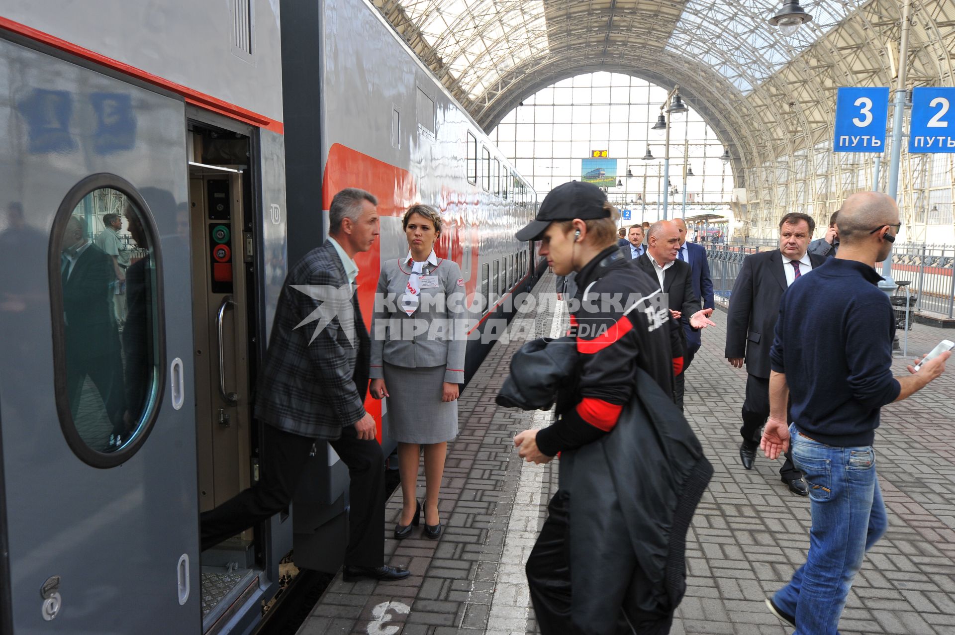
[[[326,241],[288,272],[259,373],[255,416],[292,434],[337,439],[343,426],[365,415],[369,351],[357,296]]]

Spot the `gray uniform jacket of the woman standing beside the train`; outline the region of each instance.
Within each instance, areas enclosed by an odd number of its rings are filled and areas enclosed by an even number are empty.
[[[371,379],[383,379],[383,362],[407,369],[444,366],[444,381],[464,383],[467,302],[461,268],[453,261],[426,263],[420,303],[401,308],[412,265],[387,261],[381,267],[371,323]]]

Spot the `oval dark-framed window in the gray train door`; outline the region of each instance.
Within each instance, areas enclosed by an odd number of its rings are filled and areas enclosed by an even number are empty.
[[[56,410],[74,453],[116,466],[156,419],[164,385],[156,226],[133,186],[98,174],[60,204],[49,253]]]

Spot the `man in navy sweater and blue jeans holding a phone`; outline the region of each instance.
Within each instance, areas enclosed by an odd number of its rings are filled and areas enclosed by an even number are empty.
[[[796,635],[837,635],[862,557],[887,524],[872,447],[880,409],[922,390],[949,356],[892,376],[895,320],[873,265],[888,256],[899,227],[891,198],[852,195],[839,211],[838,254],[790,287],[779,307],[761,446],[775,458],[792,445],[813,524],[806,563],[766,603]]]

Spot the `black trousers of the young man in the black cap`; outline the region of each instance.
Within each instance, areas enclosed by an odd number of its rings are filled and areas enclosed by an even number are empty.
[[[583,631],[570,612],[570,495],[558,490],[547,505],[547,519],[524,567],[541,635],[577,635]],[[618,633],[632,633],[624,612]]]

